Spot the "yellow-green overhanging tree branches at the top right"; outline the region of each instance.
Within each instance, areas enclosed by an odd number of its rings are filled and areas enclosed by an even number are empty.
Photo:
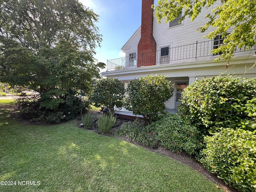
[[[216,4],[215,4],[216,3]],[[174,20],[184,9],[184,20],[186,16],[193,21],[203,8],[212,8],[211,13],[206,14],[209,21],[198,30],[205,32],[211,26],[215,28],[205,38],[212,39],[218,34],[225,36],[224,45],[212,50],[212,53],[222,52],[216,60],[224,58],[229,61],[237,48],[250,47],[255,45],[256,35],[256,1],[255,0],[158,0],[156,17],[158,22],[166,18],[166,22]],[[180,20],[180,21],[181,21]],[[234,28],[230,34],[228,29]]]

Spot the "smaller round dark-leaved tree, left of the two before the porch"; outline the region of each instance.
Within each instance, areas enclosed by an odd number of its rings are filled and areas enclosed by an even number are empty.
[[[91,100],[96,107],[106,107],[114,115],[114,107],[124,105],[124,82],[114,78],[104,78],[97,82]]]

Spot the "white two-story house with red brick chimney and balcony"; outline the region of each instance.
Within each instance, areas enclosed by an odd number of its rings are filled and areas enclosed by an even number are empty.
[[[256,62],[256,46],[250,50],[236,50],[228,68],[224,60],[214,62],[218,55],[211,54],[211,50],[223,43],[222,35],[209,40],[203,36],[211,30],[205,34],[196,31],[207,22],[205,15],[210,12],[209,9],[202,9],[193,22],[185,18],[182,23],[178,23],[177,18],[168,23],[163,19],[158,24],[152,4],[154,0],[142,0],[142,24],[122,47],[126,57],[108,60],[107,71],[102,72],[102,76],[118,78],[126,86],[130,80],[140,76],[167,76],[175,85],[174,96],[165,104],[167,109],[177,108],[182,90],[196,79],[220,74],[256,77],[256,67],[246,71]],[[116,113],[132,115],[125,109]]]

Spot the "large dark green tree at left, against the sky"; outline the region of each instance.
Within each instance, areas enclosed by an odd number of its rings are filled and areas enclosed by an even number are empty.
[[[97,20],[78,0],[0,0],[0,81],[38,91],[53,110],[88,93],[104,68]]]

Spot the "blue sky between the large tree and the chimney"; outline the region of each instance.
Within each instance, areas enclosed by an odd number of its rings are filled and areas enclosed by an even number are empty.
[[[142,0],[79,0],[99,15],[101,48],[96,49],[98,62],[123,57],[122,46],[141,24]],[[155,0],[155,3],[157,0]]]

